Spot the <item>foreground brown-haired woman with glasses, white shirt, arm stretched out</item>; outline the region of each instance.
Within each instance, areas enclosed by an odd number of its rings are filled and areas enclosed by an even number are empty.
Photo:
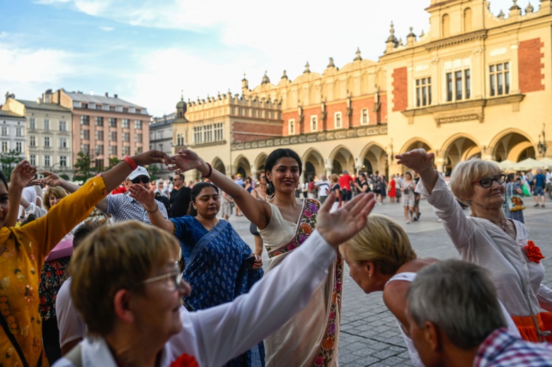
[[[71,294],[90,337],[55,366],[222,366],[304,308],[338,245],[366,223],[373,198],[358,195],[333,214],[326,202],[316,231],[271,276],[195,313],[181,305],[191,290],[180,279],[173,235],[136,221],[98,228],[70,267]]]

